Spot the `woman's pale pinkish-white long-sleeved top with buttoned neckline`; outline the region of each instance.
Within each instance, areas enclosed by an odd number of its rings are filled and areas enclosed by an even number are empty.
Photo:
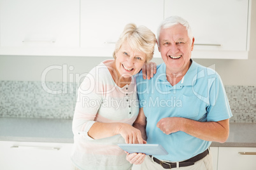
[[[100,63],[83,80],[73,118],[74,147],[71,159],[80,169],[131,169],[120,134],[94,140],[88,131],[94,122],[124,122],[133,124],[139,104],[136,79],[119,88],[104,63]]]

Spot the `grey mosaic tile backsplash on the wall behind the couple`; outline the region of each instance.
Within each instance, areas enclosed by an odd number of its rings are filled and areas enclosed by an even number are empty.
[[[79,84],[0,81],[0,117],[72,119]],[[256,86],[225,86],[233,117],[256,122]]]

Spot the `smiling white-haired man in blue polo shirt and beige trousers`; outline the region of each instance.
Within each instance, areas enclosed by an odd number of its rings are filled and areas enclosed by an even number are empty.
[[[127,160],[143,162],[141,169],[212,169],[211,141],[227,140],[232,117],[220,76],[191,59],[194,37],[180,16],[161,23],[157,45],[164,63],[152,79],[137,77],[140,110],[134,127],[169,154],[134,153]]]

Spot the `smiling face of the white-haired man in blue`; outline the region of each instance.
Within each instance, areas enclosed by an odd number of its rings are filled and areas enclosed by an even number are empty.
[[[191,44],[183,25],[177,24],[168,29],[161,29],[157,44],[168,71],[176,73],[187,68],[194,47],[194,38]]]

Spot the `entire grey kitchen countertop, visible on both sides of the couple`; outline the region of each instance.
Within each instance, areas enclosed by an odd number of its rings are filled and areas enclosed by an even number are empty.
[[[256,147],[255,123],[230,123],[229,139],[211,147]],[[72,120],[0,117],[0,141],[73,143]]]

